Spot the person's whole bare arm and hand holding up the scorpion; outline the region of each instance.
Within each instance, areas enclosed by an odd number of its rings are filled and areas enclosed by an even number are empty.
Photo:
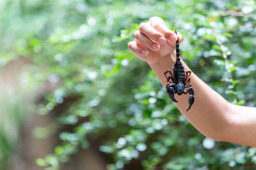
[[[152,68],[165,88],[168,82],[164,72],[172,70],[176,60],[175,41],[182,36],[166,27],[159,17],[152,17],[140,25],[134,34],[134,41],[128,47],[134,55]],[[189,67],[183,62],[186,70]],[[180,113],[204,136],[215,141],[226,141],[238,145],[256,146],[256,108],[228,103],[220,94],[211,89],[196,74],[191,73],[191,85],[195,90],[195,103],[189,111],[188,96],[177,96],[174,103]],[[172,102],[170,100],[170,102]]]

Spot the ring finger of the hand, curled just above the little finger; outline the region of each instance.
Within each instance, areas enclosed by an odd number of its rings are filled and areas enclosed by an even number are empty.
[[[135,32],[134,38],[136,39],[136,41],[139,41],[141,44],[147,46],[147,48],[150,48],[154,51],[160,49],[160,46],[157,43],[154,43],[151,39],[147,38],[147,36],[142,34],[140,31]]]

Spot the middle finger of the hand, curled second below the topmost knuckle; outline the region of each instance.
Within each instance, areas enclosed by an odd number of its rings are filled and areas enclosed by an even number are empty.
[[[156,41],[156,43],[163,44],[166,42],[166,38],[164,38],[163,34],[156,31],[156,29],[154,29],[148,22],[144,22],[140,25],[140,32],[153,41]]]

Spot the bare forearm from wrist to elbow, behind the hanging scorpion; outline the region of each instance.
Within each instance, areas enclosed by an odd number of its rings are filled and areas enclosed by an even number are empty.
[[[167,85],[164,71],[171,69],[175,62],[175,52],[172,57],[167,56],[156,64],[148,64],[157,78],[161,81],[163,87]],[[182,61],[186,70],[188,66]],[[229,129],[231,105],[217,92],[212,90],[204,81],[200,80],[193,72],[191,73],[191,85],[195,90],[195,103],[189,111],[188,95],[175,96],[178,103],[175,103],[182,115],[184,115],[198,131],[205,136],[215,139],[216,141],[223,140],[222,134],[225,134],[226,129]],[[171,102],[171,101],[170,101]]]

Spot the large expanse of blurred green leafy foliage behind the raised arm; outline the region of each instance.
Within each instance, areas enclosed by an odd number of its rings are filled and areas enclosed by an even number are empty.
[[[54,92],[45,94],[38,114],[44,117],[67,97],[77,97],[54,120],[74,129],[61,132],[62,144],[36,159],[38,165],[60,169],[70,155],[90,147],[88,138],[93,138],[109,169],[131,164],[136,169],[254,167],[255,148],[215,142],[196,131],[127,43],[140,22],[162,17],[182,33],[182,59],[191,70],[231,103],[255,106],[255,1],[0,4],[0,65],[20,56],[31,60],[33,66],[20,75],[26,90],[36,90],[46,80],[58,82]],[[80,123],[81,118],[86,122]]]

